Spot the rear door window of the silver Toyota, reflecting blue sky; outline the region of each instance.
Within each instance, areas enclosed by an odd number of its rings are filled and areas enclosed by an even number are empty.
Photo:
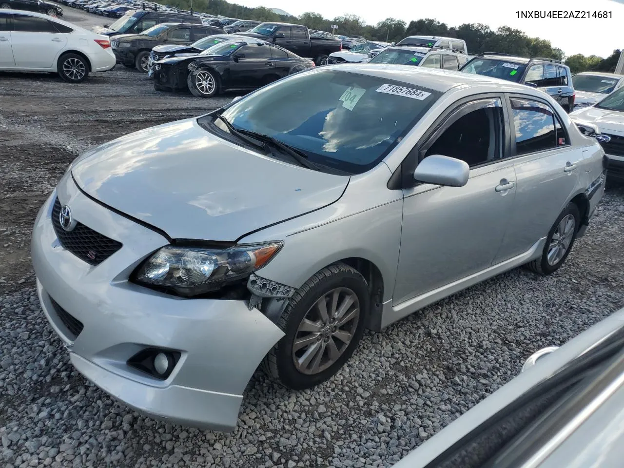
[[[511,99],[518,155],[557,147],[555,113],[548,105],[528,99]]]

